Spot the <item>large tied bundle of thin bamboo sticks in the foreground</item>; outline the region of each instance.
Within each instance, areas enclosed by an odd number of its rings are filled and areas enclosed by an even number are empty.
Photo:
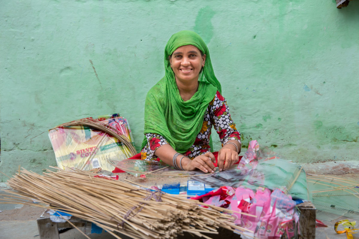
[[[162,239],[176,238],[185,231],[209,238],[203,233],[216,234],[219,227],[238,233],[246,230],[236,226],[228,214],[232,211],[222,207],[202,207],[196,200],[94,177],[88,171],[55,169],[58,171],[47,170],[43,175],[19,171],[7,182],[20,196],[11,201],[37,199],[48,205],[43,207],[90,221],[119,239],[114,232],[135,239]]]

